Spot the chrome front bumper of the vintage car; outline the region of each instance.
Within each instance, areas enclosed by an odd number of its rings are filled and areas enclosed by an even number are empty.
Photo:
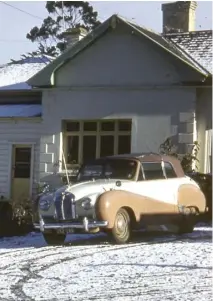
[[[40,216],[39,223],[34,223],[34,228],[44,232],[45,230],[65,230],[65,229],[82,229],[88,232],[90,229],[104,228],[108,225],[107,221],[89,221],[87,217],[84,217],[82,222],[56,222],[45,223]]]

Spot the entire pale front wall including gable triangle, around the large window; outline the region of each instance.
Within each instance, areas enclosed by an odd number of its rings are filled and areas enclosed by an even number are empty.
[[[132,152],[158,152],[172,136],[185,153],[194,140],[198,73],[132,30],[118,27],[67,61],[44,90],[40,177],[60,170],[62,120],[132,118]]]

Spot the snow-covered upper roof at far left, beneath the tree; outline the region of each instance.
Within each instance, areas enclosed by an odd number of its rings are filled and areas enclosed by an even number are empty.
[[[51,57],[43,55],[0,66],[0,91],[31,89],[27,80],[43,69],[51,60]]]

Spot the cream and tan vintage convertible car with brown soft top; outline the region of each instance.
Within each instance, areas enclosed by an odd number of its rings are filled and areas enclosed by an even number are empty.
[[[178,159],[117,155],[82,165],[75,183],[42,194],[34,226],[48,244],[63,244],[67,233],[99,231],[126,243],[133,230],[147,225],[192,232],[205,207],[204,194]]]

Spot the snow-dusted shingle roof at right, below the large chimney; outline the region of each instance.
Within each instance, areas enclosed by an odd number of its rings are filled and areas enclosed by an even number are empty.
[[[212,74],[212,30],[168,33],[164,37],[189,55],[198,68]]]

